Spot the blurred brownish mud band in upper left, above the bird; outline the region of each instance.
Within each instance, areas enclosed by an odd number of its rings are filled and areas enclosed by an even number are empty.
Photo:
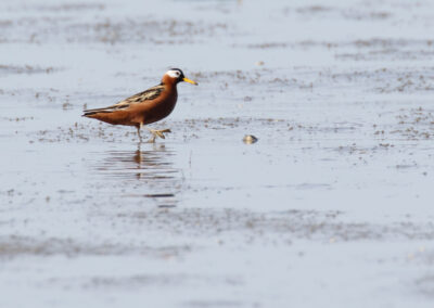
[[[3,26],[0,36],[3,42],[27,43],[152,43],[188,44],[197,43],[209,37],[224,36],[228,26],[207,21],[157,20],[152,15],[136,18],[94,16],[82,23],[74,15],[59,17],[20,17]],[[21,34],[21,35],[17,35]]]

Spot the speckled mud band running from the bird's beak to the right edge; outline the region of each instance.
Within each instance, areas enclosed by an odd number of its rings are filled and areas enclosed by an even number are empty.
[[[327,95],[333,89],[359,89],[365,93],[426,93],[434,91],[431,67],[378,67],[378,68],[323,68],[293,67],[291,69],[257,68],[254,70],[195,72],[194,79],[217,84],[222,91],[252,87],[247,102],[266,100],[272,103],[284,92],[306,92]],[[258,89],[267,89],[266,92]],[[238,98],[238,93],[231,93]],[[239,98],[244,99],[243,98]],[[309,98],[307,98],[309,99]]]

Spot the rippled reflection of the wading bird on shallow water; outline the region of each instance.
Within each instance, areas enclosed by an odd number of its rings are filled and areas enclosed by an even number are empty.
[[[164,144],[135,152],[111,151],[97,167],[104,178],[115,178],[128,197],[153,200],[159,207],[174,207],[182,185],[182,172],[174,167],[175,152]]]

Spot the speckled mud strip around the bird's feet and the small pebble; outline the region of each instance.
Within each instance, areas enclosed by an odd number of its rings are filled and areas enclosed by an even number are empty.
[[[284,118],[251,118],[251,117],[219,117],[219,118],[190,118],[184,120],[163,120],[158,127],[169,128],[170,133],[165,140],[157,139],[157,143],[170,141],[205,140],[217,142],[228,139],[242,140],[246,133],[261,130],[257,138],[271,143],[288,143],[296,140],[312,140],[316,138],[337,138],[339,136],[357,134],[365,129],[357,123],[335,123],[304,125]],[[221,132],[226,132],[225,136]],[[142,138],[150,137],[146,129],[142,129]],[[238,137],[238,138],[237,138]],[[128,126],[112,126],[92,119],[84,119],[73,126],[62,126],[55,129],[44,129],[26,133],[29,143],[87,143],[104,141],[111,143],[138,142],[137,130]],[[307,139],[306,139],[307,138]]]

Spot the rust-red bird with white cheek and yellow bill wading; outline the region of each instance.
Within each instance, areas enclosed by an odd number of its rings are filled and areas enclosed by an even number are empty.
[[[159,85],[112,106],[85,110],[82,116],[112,125],[135,126],[139,140],[142,142],[140,129],[167,117],[174,111],[178,99],[177,85],[182,81],[197,86],[197,82],[187,78],[181,69],[170,68],[164,74]],[[145,128],[152,133],[151,139],[148,140],[150,143],[154,143],[156,137],[165,139],[164,133],[170,132],[170,129]]]

